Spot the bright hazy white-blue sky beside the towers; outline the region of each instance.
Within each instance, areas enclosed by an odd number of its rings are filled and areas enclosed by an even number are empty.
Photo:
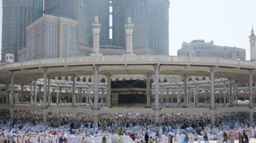
[[[0,33],[2,3],[0,0]],[[255,6],[256,0],[170,0],[170,55],[177,55],[183,41],[202,39],[206,42],[213,40],[219,46],[245,48],[249,60],[248,36],[252,24],[256,29]]]

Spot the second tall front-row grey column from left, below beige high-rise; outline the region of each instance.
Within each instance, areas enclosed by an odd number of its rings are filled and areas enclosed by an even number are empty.
[[[46,109],[47,109],[47,68],[43,68],[43,122],[46,122]]]

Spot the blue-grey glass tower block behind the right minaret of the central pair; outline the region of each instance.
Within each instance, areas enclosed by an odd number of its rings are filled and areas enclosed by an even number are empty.
[[[133,49],[150,49],[155,55],[169,55],[168,0],[113,0],[113,41],[125,46],[124,24],[131,16]]]

